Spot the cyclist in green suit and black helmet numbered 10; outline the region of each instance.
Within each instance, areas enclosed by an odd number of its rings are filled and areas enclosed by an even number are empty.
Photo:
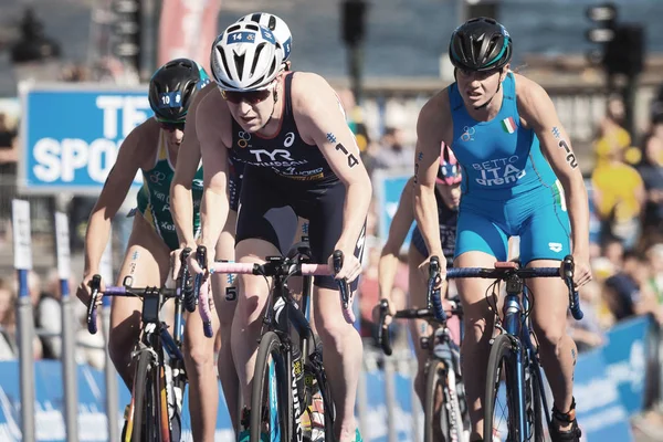
[[[134,227],[117,285],[127,275],[134,277],[136,286],[165,284],[170,253],[179,246],[169,208],[170,180],[175,173],[189,106],[209,82],[204,70],[188,59],[172,60],[152,75],[148,97],[155,116],[131,130],[122,144],[117,160],[90,215],[85,234],[85,270],[76,292],[83,303],[90,302],[90,280],[99,273],[102,254],[110,235],[110,220],[125,200],[138,171],[143,175],[144,185],[138,192]],[[197,231],[200,227],[199,208],[202,197],[200,167],[193,179],[192,190],[193,217],[189,223]],[[110,313],[108,351],[129,390],[133,385],[131,349],[140,332],[140,299],[117,297]],[[202,334],[200,327],[194,330]],[[189,340],[187,335],[185,340]],[[196,349],[186,350],[186,360],[190,361],[190,352]],[[187,368],[191,373],[193,368],[190,364],[187,364]],[[215,378],[213,381],[215,382]],[[194,390],[194,387],[190,390]]]

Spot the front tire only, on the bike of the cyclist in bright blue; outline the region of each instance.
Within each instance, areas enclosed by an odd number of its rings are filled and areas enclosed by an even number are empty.
[[[512,391],[512,382],[509,382],[509,360],[508,360],[508,356],[512,352],[512,348],[513,348],[513,341],[512,341],[512,337],[507,336],[507,335],[498,335],[495,340],[493,341],[493,345],[491,346],[491,355],[488,357],[488,368],[487,368],[487,375],[486,375],[486,392],[485,392],[485,400],[483,403],[483,408],[484,408],[484,441],[486,442],[492,442],[493,441],[493,430],[494,430],[494,420],[493,420],[493,414],[495,411],[495,400],[496,400],[496,396],[497,396],[497,389],[499,388],[499,382],[501,382],[501,372],[502,372],[502,368],[503,368],[503,362],[505,364],[504,367],[506,368],[506,400],[507,400],[507,408],[508,408],[508,434],[505,434],[504,438],[502,438],[502,441],[505,440],[520,440],[519,435],[517,434],[518,430],[517,430],[517,425],[515,424],[515,422],[517,422],[517,420],[515,420],[514,418],[514,411],[516,411],[516,408],[513,407],[514,399],[515,399],[515,391]],[[513,372],[513,371],[512,371]],[[514,435],[516,436],[514,439]],[[508,439],[507,439],[508,438]]]

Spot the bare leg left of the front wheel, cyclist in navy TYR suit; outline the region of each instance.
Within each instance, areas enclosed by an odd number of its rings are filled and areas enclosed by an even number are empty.
[[[259,239],[243,240],[235,246],[235,261],[241,263],[263,263],[263,256],[280,254],[272,243]],[[238,296],[230,339],[243,406],[250,408],[255,352],[270,286],[262,276],[239,275],[238,280],[242,291]]]

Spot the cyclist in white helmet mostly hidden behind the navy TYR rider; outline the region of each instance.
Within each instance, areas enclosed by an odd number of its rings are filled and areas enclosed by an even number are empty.
[[[270,13],[252,13],[241,18],[241,21],[259,21],[261,24],[267,25],[273,30],[274,35],[283,46],[292,46],[292,35],[287,24],[278,17]],[[290,62],[284,57],[284,63]],[[190,219],[191,210],[191,181],[196,170],[200,164],[200,143],[196,133],[196,122],[198,114],[198,105],[207,95],[212,95],[210,99],[219,99],[223,102],[220,94],[210,94],[217,91],[214,83],[204,87],[194,98],[187,114],[187,124],[185,126],[185,137],[180,146],[180,159],[175,171],[175,177],[170,190],[170,210],[178,232],[180,250],[189,246],[196,250],[196,240],[191,230]],[[186,155],[181,155],[186,152]],[[239,208],[240,191],[243,176],[243,164],[233,161],[229,157],[229,201],[230,211],[223,231],[217,242],[217,259],[234,261],[234,244],[235,244],[235,222]],[[297,235],[301,238],[301,235]],[[177,272],[177,263],[175,260],[173,270]],[[191,413],[192,435],[194,441],[213,440],[217,423],[217,411],[219,402],[218,385],[214,381],[217,373],[214,372],[214,341],[219,338],[220,348],[218,357],[219,378],[223,388],[223,396],[228,406],[229,414],[236,430],[238,425],[238,398],[239,382],[238,375],[232,362],[232,352],[230,348],[230,334],[232,318],[236,305],[236,286],[233,284],[232,277],[228,275],[215,275],[211,280],[212,292],[214,294],[214,304],[217,306],[217,315],[219,322],[213,320],[215,338],[208,339],[202,334],[202,324],[198,313],[190,315],[187,322],[189,333],[188,345],[192,347],[189,351],[191,362],[194,370],[189,370],[189,376],[194,379],[201,379],[200,382],[190,382],[189,401],[191,409],[198,410],[197,413]],[[215,319],[215,318],[212,318]],[[217,334],[219,336],[217,336]],[[209,379],[209,381],[206,381]],[[194,389],[194,387],[197,387]]]

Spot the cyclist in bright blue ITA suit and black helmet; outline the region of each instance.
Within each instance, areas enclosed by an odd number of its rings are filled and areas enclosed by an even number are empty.
[[[493,19],[472,19],[451,35],[455,83],[422,108],[417,126],[414,211],[430,256],[440,246],[435,177],[440,144],[463,168],[454,267],[492,267],[520,236],[520,264],[558,266],[572,253],[576,288],[591,280],[587,191],[569,137],[541,86],[509,71],[513,40]],[[572,248],[571,248],[572,244]],[[428,262],[422,265],[428,270]],[[444,260],[442,260],[444,262]],[[484,299],[492,281],[459,280],[465,314],[463,377],[481,440],[487,346],[493,330]],[[576,346],[566,333],[564,281],[530,280],[532,318],[554,396],[551,439],[579,441],[572,396]]]

